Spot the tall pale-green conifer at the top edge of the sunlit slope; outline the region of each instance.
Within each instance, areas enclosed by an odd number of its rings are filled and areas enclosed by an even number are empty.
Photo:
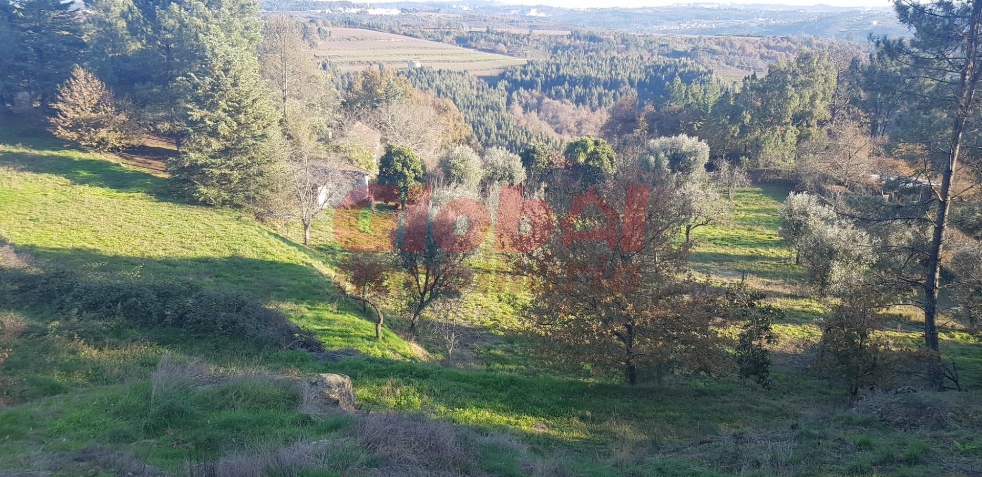
[[[255,56],[261,21],[254,1],[137,1],[132,26],[162,78],[143,94],[167,122],[179,147],[168,170],[187,197],[243,206],[268,185],[278,140],[277,111],[259,78]],[[172,81],[166,80],[173,79]],[[145,99],[145,96],[144,96]]]

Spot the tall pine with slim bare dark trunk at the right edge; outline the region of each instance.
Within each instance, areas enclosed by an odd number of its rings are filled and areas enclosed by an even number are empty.
[[[913,171],[907,180],[927,178],[931,183],[929,193],[919,200],[891,203],[889,209],[867,208],[859,215],[861,222],[877,228],[890,223],[902,231],[883,253],[896,260],[887,276],[899,287],[912,286],[909,291],[915,298],[911,302],[924,312],[924,347],[932,355],[928,380],[932,388],[943,389],[938,321],[941,291],[946,287],[943,269],[950,214],[953,204],[969,200],[982,185],[977,154],[982,111],[982,0],[895,1],[894,5],[900,24],[912,35],[876,42],[885,64],[899,67],[898,76],[888,72],[886,77],[899,78],[892,88],[906,109],[893,134],[912,152],[903,154]]]

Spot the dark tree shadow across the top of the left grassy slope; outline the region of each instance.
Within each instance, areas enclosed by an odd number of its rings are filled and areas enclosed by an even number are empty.
[[[159,200],[186,203],[175,196],[164,179],[136,171],[33,129],[0,128],[0,164],[36,174],[63,177],[73,184],[142,192]]]

